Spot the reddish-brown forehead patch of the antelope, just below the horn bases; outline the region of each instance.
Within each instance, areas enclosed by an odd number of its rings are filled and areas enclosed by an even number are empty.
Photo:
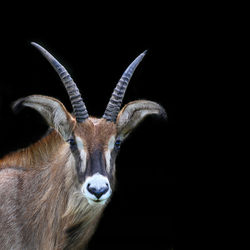
[[[90,117],[76,125],[75,135],[82,138],[89,148],[102,146],[116,135],[116,125],[105,119]]]

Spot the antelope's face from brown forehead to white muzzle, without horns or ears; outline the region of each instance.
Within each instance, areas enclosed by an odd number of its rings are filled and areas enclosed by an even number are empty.
[[[77,124],[70,139],[81,191],[90,204],[104,204],[112,193],[119,150],[116,136],[114,123],[89,118]]]

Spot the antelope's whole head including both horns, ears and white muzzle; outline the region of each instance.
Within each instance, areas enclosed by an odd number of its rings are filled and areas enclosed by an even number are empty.
[[[77,179],[89,204],[105,204],[115,182],[115,159],[121,142],[150,114],[166,117],[165,110],[152,101],[130,102],[122,110],[128,83],[143,57],[140,54],[126,69],[110,98],[102,118],[89,117],[81,94],[66,69],[43,47],[32,43],[59,74],[73,107],[73,115],[57,99],[31,95],[17,100],[13,107],[37,110],[70,145]]]

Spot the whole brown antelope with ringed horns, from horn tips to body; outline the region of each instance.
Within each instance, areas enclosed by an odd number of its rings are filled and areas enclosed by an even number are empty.
[[[166,117],[156,102],[122,100],[146,51],[125,70],[101,118],[89,116],[76,83],[42,46],[31,43],[58,73],[73,113],[43,95],[20,98],[49,125],[27,148],[0,160],[0,249],[86,249],[115,188],[121,143],[148,115]]]

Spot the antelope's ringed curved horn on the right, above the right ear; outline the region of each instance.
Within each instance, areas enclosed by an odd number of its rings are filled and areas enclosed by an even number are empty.
[[[126,89],[128,87],[129,81],[139,63],[142,61],[143,57],[146,55],[146,50],[141,53],[136,59],[128,66],[128,68],[123,73],[121,79],[117,83],[113,94],[109,100],[108,106],[102,116],[107,121],[116,122],[117,115],[120,111],[123,97],[125,95]]]

